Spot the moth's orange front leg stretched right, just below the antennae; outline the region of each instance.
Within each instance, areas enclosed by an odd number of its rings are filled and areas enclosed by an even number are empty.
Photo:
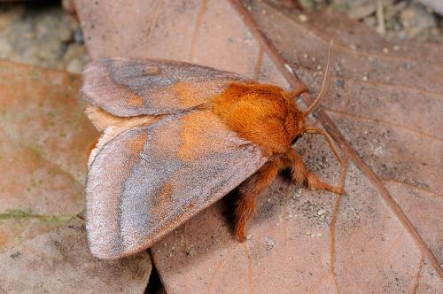
[[[290,149],[284,156],[284,165],[292,168],[292,180],[298,183],[307,183],[307,188],[310,190],[328,190],[332,193],[343,194],[342,187],[334,187],[326,182],[322,182],[318,176],[309,172],[303,162],[303,159],[299,157],[297,152]]]

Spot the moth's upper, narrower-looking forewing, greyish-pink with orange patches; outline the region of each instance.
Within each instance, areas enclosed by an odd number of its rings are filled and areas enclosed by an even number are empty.
[[[107,58],[85,67],[82,94],[90,104],[116,116],[158,115],[206,104],[233,81],[251,82],[184,62]]]

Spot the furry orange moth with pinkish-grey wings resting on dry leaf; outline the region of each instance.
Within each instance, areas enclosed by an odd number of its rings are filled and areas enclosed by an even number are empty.
[[[256,197],[284,169],[312,190],[343,193],[307,170],[292,145],[330,83],[331,47],[315,102],[284,89],[184,62],[105,58],[83,71],[87,114],[103,131],[89,156],[86,228],[100,259],[143,251],[237,187],[235,236],[245,240]]]

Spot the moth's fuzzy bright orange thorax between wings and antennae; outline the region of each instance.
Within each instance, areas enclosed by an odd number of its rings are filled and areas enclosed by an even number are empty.
[[[232,83],[214,99],[214,112],[268,155],[287,151],[303,120],[283,89],[261,84]]]

